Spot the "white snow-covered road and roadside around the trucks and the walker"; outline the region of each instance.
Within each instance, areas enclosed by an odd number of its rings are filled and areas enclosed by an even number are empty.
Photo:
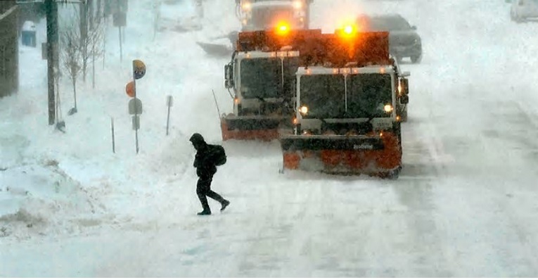
[[[129,19],[150,18],[142,12],[148,1],[129,6]],[[148,65],[137,82],[148,93],[140,155],[126,110],[117,110],[127,106],[117,94],[129,77],[124,65],[110,65],[101,89],[81,96],[65,136],[35,121],[46,119],[46,101],[27,108],[24,92],[0,101],[0,154],[10,167],[0,180],[15,184],[13,172],[24,171],[38,185],[45,168],[69,178],[51,182],[74,193],[20,198],[0,185],[1,201],[23,201],[12,208],[30,217],[0,212],[9,233],[0,237],[0,276],[538,276],[538,25],[511,23],[499,0],[316,0],[313,8],[312,25],[326,32],[361,12],[402,13],[418,27],[425,54],[421,64],[403,65],[411,93],[398,180],[278,174],[278,143],[229,141],[214,190],[231,205],[221,214],[210,202],[215,214],[196,216],[188,136],[220,141],[211,89],[221,110],[231,101],[222,89],[226,59],[206,58],[195,42],[236,27],[233,4],[207,7],[208,17],[230,12],[212,27],[155,42],[135,22],[126,34],[137,44],[124,57]],[[21,60],[32,55],[23,51]],[[29,91],[44,84],[22,82]],[[167,94],[177,101],[168,137]],[[110,115],[122,144],[116,154],[107,146]],[[87,148],[76,148],[81,141]]]

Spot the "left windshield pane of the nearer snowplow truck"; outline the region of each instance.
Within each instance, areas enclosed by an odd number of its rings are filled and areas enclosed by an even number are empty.
[[[299,105],[308,107],[306,118],[336,118],[345,113],[343,75],[304,75],[300,87]]]

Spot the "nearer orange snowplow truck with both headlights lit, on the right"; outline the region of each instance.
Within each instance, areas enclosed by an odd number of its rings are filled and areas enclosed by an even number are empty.
[[[397,106],[406,74],[389,57],[388,32],[323,34],[296,72],[293,129],[280,136],[286,170],[397,178],[402,136]]]

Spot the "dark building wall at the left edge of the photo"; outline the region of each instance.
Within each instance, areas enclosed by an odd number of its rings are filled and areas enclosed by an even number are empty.
[[[18,10],[15,0],[0,1],[0,97],[18,90]]]

